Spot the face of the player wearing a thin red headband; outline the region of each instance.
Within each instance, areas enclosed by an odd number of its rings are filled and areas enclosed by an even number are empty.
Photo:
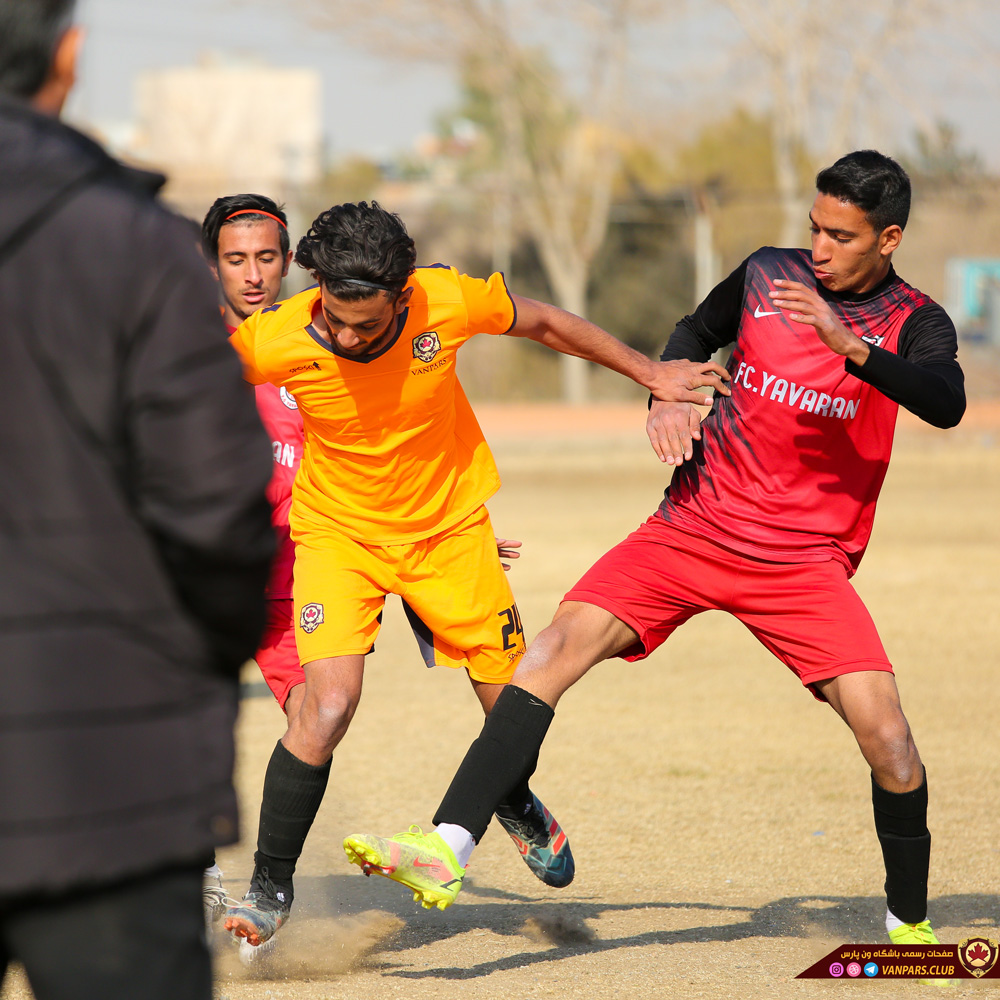
[[[231,222],[219,230],[219,256],[212,270],[222,286],[225,319],[239,326],[281,294],[292,252],[281,252],[278,223],[272,219]]]

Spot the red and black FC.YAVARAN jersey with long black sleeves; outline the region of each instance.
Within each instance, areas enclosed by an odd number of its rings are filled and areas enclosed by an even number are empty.
[[[818,287],[871,346],[863,368],[773,305],[775,278]],[[944,425],[964,409],[954,327],[895,272],[865,295],[838,295],[817,286],[807,251],[766,247],[682,321],[663,357],[701,360],[734,336],[732,395],[716,399],[660,515],[754,558],[840,559],[853,573],[871,534],[898,403],[924,406],[925,419]],[[904,338],[918,360],[900,357]]]

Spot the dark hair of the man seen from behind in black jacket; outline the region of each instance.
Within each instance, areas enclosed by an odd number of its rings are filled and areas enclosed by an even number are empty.
[[[52,68],[76,0],[0,0],[0,93],[32,97]]]

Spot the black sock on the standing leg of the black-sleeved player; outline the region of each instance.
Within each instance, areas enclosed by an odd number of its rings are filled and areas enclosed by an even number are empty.
[[[927,773],[919,788],[887,792],[872,776],[875,832],[885,861],[889,910],[905,924],[927,919],[931,835],[927,829]]]

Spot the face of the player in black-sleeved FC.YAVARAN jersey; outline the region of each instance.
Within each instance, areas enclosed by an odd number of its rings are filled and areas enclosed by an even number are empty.
[[[889,273],[902,230],[876,233],[865,213],[848,201],[818,194],[809,213],[812,262],[817,280],[831,292],[871,291]]]

